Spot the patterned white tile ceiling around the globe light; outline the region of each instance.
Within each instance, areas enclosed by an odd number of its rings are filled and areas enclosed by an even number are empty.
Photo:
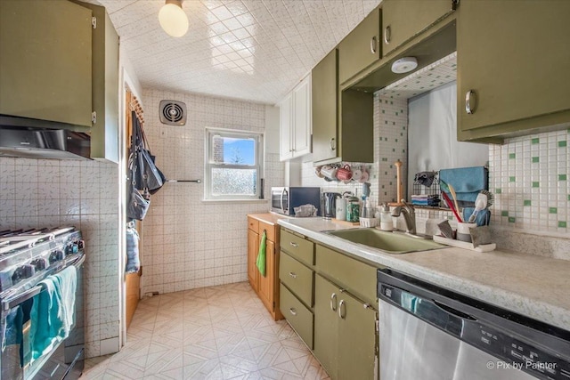
[[[185,0],[180,38],[164,0],[87,0],[107,8],[144,88],[281,101],[381,0]]]

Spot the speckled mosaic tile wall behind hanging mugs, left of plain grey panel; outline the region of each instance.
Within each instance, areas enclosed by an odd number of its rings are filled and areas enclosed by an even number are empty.
[[[406,189],[406,161],[408,132],[408,101],[405,99],[390,99],[385,96],[374,98],[374,163],[348,163],[351,166],[364,165],[370,171],[371,201],[373,205],[396,200],[396,170],[394,163],[403,163],[402,182]],[[362,194],[362,184],[359,182],[326,182],[314,173],[313,161],[303,163],[303,186],[320,186],[323,191],[353,191]]]

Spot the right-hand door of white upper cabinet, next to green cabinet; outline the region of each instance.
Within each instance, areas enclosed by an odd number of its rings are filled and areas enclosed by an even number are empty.
[[[293,90],[295,128],[293,129],[293,157],[311,153],[311,76]]]

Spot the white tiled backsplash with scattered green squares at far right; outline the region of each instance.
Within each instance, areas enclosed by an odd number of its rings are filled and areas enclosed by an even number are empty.
[[[570,130],[565,130],[490,146],[493,224],[560,235],[570,232],[569,140]]]

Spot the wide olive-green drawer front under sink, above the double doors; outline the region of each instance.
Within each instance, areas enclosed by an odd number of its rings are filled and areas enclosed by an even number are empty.
[[[332,279],[363,301],[376,303],[376,267],[317,245],[316,268],[325,277]]]

